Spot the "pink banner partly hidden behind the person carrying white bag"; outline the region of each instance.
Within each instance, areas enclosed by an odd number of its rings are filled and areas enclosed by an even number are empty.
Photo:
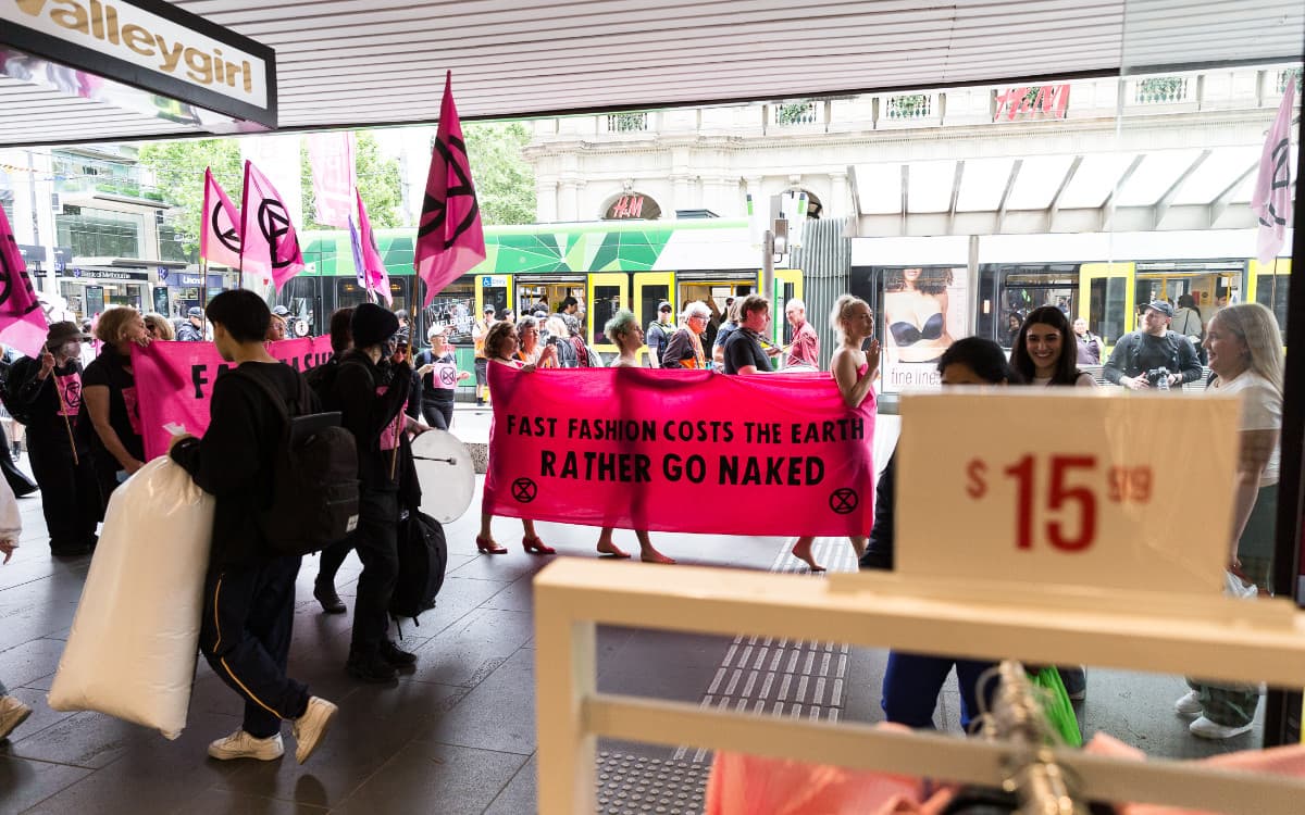
[[[298,370],[321,365],[331,355],[329,336],[283,339],[268,343],[268,351]],[[146,458],[167,452],[172,438],[166,428],[168,424],[181,425],[192,436],[204,436],[209,428],[213,382],[231,366],[213,343],[157,342],[132,349]]]

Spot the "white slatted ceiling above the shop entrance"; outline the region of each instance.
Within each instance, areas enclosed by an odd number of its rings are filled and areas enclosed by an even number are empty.
[[[1305,23],[1298,0],[176,5],[275,50],[282,128],[435,121],[446,69],[463,117],[512,117],[1297,59]],[[64,102],[0,85],[0,143],[204,132]]]

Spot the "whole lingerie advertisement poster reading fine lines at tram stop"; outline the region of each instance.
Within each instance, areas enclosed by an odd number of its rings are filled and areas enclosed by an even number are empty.
[[[876,334],[883,349],[881,394],[933,389],[938,359],[970,335],[964,266],[877,267],[880,308]]]

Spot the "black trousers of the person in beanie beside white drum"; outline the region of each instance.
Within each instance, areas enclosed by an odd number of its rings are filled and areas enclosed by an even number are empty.
[[[354,601],[351,659],[376,655],[390,627],[390,596],[399,575],[398,493],[363,489],[354,549],[363,561]]]

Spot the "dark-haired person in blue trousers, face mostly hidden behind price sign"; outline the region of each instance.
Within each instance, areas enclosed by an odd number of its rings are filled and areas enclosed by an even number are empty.
[[[947,386],[1019,382],[1019,374],[1006,364],[1006,355],[1001,347],[977,336],[967,336],[953,343],[938,360],[938,373],[942,374],[942,383]],[[861,558],[861,569],[893,567],[895,499],[893,469],[893,459],[889,459],[889,466],[880,476],[876,488],[874,528],[870,531],[869,549]],[[994,665],[996,662],[980,660],[890,651],[883,672],[881,702],[883,713],[889,721],[897,724],[932,729],[938,692],[942,691],[947,674],[955,668],[957,685],[960,687],[960,726],[968,729],[971,720],[981,709],[979,678]],[[992,683],[987,687],[987,694],[990,694],[994,686],[996,683]]]

